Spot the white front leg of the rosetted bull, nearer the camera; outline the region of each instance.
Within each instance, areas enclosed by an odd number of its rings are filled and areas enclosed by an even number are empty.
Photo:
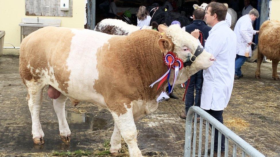
[[[126,106],[125,104],[123,104]],[[133,103],[130,104],[131,108],[127,108],[125,114],[120,114],[118,116],[116,113],[112,112],[112,116],[115,121],[115,125],[120,130],[121,136],[124,138],[127,143],[129,155],[133,157],[142,157],[141,151],[137,145],[137,130],[133,119]]]

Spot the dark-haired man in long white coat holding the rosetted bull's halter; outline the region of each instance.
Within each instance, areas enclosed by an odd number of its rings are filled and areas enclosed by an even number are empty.
[[[206,23],[212,27],[205,50],[217,59],[203,71],[200,107],[223,123],[223,110],[228,105],[234,82],[236,35],[225,23],[227,9],[222,3],[211,2],[206,7]],[[197,39],[197,30],[191,34]],[[218,130],[215,129],[214,156],[218,150]],[[225,136],[221,136],[221,156],[224,156]],[[210,151],[208,151],[210,154]]]

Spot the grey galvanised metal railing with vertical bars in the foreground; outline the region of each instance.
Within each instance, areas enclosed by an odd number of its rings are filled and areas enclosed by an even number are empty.
[[[265,157],[262,153],[232,132],[229,128],[224,126],[221,122],[216,120],[210,114],[205,112],[203,109],[197,106],[192,106],[189,108],[187,116],[186,116],[186,135],[185,135],[185,147],[184,147],[184,157],[191,156],[191,143],[192,143],[192,123],[193,123],[193,115],[195,114],[194,119],[194,129],[193,129],[193,154],[196,155],[196,136],[197,136],[197,114],[200,115],[200,124],[199,124],[199,144],[198,144],[198,156],[201,157],[201,149],[202,149],[202,125],[203,119],[206,120],[206,131],[205,131],[205,150],[204,153],[208,154],[208,140],[209,140],[209,124],[212,125],[212,133],[211,133],[211,151],[210,157],[213,157],[214,154],[214,136],[215,136],[215,128],[219,130],[218,134],[218,150],[217,156],[221,156],[221,135],[225,136],[225,157],[228,157],[229,150],[229,140],[233,142],[233,157],[237,155],[237,147],[242,150],[242,157],[245,157],[246,154],[253,157]]]

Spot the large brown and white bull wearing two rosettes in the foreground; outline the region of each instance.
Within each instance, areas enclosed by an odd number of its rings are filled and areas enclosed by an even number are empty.
[[[42,90],[49,85],[60,94],[53,106],[64,142],[70,141],[71,134],[65,118],[65,101],[70,97],[111,112],[115,122],[111,154],[118,154],[122,136],[130,156],[142,156],[134,121],[158,108],[160,91],[149,85],[167,71],[162,55],[173,51],[186,61],[197,47],[197,40],[177,25],[162,34],[145,29],[128,36],[52,26],[31,33],[21,44],[20,75],[28,91],[34,143],[44,143],[39,112]],[[190,67],[179,71],[176,84],[212,63],[211,54],[203,51]]]

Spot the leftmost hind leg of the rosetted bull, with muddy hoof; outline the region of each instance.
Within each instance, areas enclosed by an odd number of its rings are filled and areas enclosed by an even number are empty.
[[[44,132],[39,119],[42,106],[43,85],[38,82],[26,81],[28,90],[28,106],[32,118],[32,135],[34,144],[44,144]]]

